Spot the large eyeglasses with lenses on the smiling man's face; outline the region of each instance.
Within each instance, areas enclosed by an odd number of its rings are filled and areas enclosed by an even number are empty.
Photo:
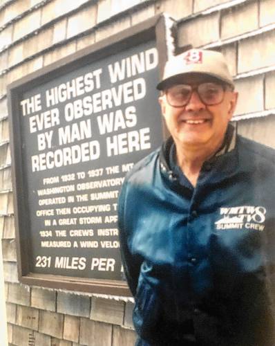
[[[201,102],[207,106],[214,106],[223,101],[227,86],[215,82],[201,83],[198,86],[177,84],[167,89],[167,102],[172,107],[184,107],[191,99],[193,91],[198,93]]]

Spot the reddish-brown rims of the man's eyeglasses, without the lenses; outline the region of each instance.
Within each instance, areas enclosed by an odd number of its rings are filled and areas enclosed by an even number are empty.
[[[213,103],[213,102],[207,103],[207,102],[205,102],[204,100],[202,100],[201,95],[200,95],[200,93],[199,93],[199,91],[198,91],[198,88],[200,88],[200,86],[203,85],[203,84],[214,84],[214,85],[217,85],[217,86],[221,86],[221,87],[222,87],[222,91],[223,91],[223,92],[222,92],[222,98],[221,98],[221,100],[219,100],[218,102],[214,102],[214,103]],[[191,93],[190,93],[190,95],[189,95],[189,98],[188,98],[187,101],[184,102],[183,104],[180,104],[180,105],[171,104],[171,100],[169,100],[169,90],[171,90],[171,89],[172,89],[173,87],[175,87],[175,86],[180,86],[180,85],[191,87]],[[185,107],[185,106],[189,103],[189,101],[191,100],[191,97],[192,97],[194,91],[196,91],[196,93],[197,93],[197,95],[198,95],[198,98],[200,99],[200,101],[201,101],[203,104],[205,104],[205,106],[216,106],[216,105],[222,103],[222,101],[225,99],[225,91],[227,91],[227,89],[229,89],[229,91],[233,91],[233,90],[234,90],[233,87],[232,87],[231,85],[229,85],[229,84],[224,84],[224,83],[218,83],[218,82],[202,82],[202,83],[198,84],[197,86],[192,86],[191,84],[183,84],[183,83],[182,83],[182,84],[176,84],[176,85],[174,85],[174,86],[171,86],[170,88],[166,89],[166,90],[164,91],[164,93],[165,93],[165,95],[166,95],[168,104],[169,104],[171,107],[174,107],[174,108]]]

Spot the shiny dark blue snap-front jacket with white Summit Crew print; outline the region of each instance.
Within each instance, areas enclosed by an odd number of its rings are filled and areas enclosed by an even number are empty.
[[[134,166],[119,200],[137,345],[274,346],[275,155],[237,136],[196,188],[173,141]]]

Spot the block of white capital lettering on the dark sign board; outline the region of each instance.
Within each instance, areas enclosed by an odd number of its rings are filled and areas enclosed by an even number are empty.
[[[158,51],[151,43],[142,47],[95,64],[87,60],[75,70],[64,66],[57,79],[22,91],[22,154],[39,272],[47,266],[48,274],[51,266],[53,275],[79,271],[79,277],[121,280],[119,190],[125,173],[158,142],[151,134],[158,114],[149,109],[158,98],[151,91]]]

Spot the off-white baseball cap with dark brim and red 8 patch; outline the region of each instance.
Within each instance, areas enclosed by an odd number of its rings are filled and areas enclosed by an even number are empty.
[[[173,82],[178,82],[179,78],[187,73],[209,75],[234,86],[227,62],[222,53],[192,48],[167,60],[162,80],[158,83],[157,89],[165,89]],[[180,81],[183,82],[181,79]]]

